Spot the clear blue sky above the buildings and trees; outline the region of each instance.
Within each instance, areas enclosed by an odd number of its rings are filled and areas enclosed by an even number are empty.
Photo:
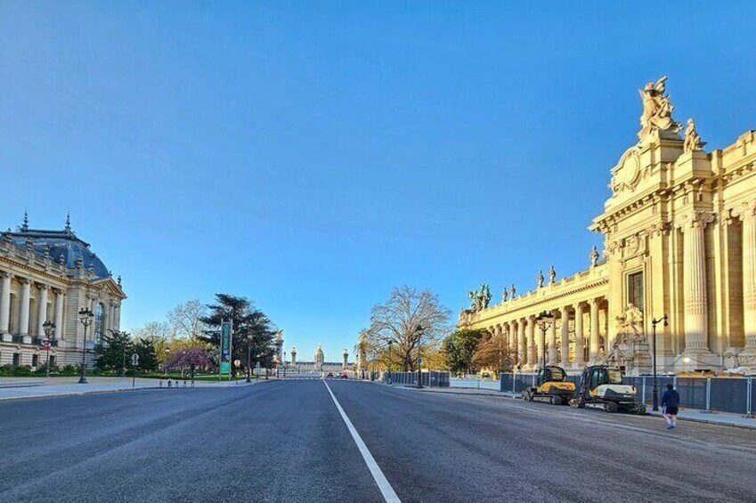
[[[756,128],[756,8],[539,4],[0,2],[2,225],[70,210],[126,328],[230,292],[300,358],[394,286],[577,272],[646,81]]]

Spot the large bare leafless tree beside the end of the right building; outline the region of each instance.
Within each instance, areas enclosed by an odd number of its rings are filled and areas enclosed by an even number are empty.
[[[394,288],[386,303],[376,304],[371,311],[366,332],[370,353],[387,360],[391,341],[394,363],[413,370],[420,346],[437,348],[448,333],[450,315],[430,290]]]

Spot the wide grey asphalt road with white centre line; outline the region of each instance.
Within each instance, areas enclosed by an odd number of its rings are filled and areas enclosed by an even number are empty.
[[[329,380],[402,501],[756,500],[756,433]],[[0,403],[0,501],[382,501],[326,385]]]

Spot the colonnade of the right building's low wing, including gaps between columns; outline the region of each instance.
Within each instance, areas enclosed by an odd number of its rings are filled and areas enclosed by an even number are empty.
[[[606,328],[602,333],[602,323],[599,320],[603,302],[604,297],[591,298],[550,310],[554,315],[550,320],[538,320],[536,314],[530,314],[497,323],[488,330],[506,341],[515,368],[533,369],[544,362],[564,367],[582,367],[597,361],[601,350],[606,350],[602,344],[606,338]],[[589,317],[587,332],[586,317]],[[571,334],[574,335],[573,345],[570,344],[573,338]],[[574,352],[572,356],[571,347]]]

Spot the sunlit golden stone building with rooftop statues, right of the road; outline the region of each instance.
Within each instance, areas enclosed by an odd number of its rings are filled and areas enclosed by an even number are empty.
[[[471,292],[459,315],[460,326],[506,337],[521,369],[615,356],[647,371],[652,320],[664,314],[660,369],[756,368],[756,132],[704,151],[692,119],[680,136],[665,80],[640,91],[638,143],[612,167],[611,197],[589,226],[604,253],[594,248],[586,270],[561,280],[540,272],[534,289],[516,296],[513,286],[499,304]]]

